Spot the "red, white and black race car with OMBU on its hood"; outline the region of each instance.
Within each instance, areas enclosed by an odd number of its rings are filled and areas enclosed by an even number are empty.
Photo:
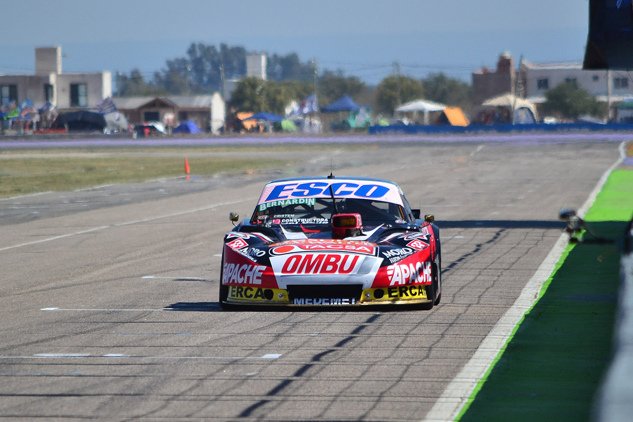
[[[434,220],[420,219],[388,180],[273,180],[251,218],[224,237],[220,306],[431,309],[442,294]]]

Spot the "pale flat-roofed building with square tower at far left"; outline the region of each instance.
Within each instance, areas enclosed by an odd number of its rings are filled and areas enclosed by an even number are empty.
[[[41,108],[51,102],[58,109],[94,108],[112,96],[110,71],[62,73],[61,47],[35,49],[35,74],[0,75],[0,105],[29,99]]]

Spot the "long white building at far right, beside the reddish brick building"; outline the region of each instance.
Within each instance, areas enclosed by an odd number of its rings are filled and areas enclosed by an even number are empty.
[[[601,102],[620,102],[633,97],[633,82],[627,71],[582,70],[582,63],[523,63],[527,99],[545,102],[545,91],[573,80]]]

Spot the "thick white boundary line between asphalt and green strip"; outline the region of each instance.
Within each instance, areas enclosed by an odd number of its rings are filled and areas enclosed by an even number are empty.
[[[587,197],[587,200],[579,208],[578,214],[581,218],[584,217],[589,207],[591,207],[591,204],[593,204],[611,172],[622,163],[622,159],[624,158],[622,151],[624,151],[624,142],[620,144],[620,158],[603,173],[596,187],[594,187],[589,197]],[[453,381],[449,383],[448,387],[446,387],[442,395],[437,399],[436,404],[423,419],[424,421],[453,421],[460,414],[468,397],[470,397],[483,376],[486,375],[494,359],[496,359],[501,351],[501,347],[508,341],[515,326],[517,326],[525,313],[534,306],[534,302],[536,302],[539,297],[543,283],[554,270],[558,259],[560,259],[561,254],[567,247],[567,242],[567,233],[561,234],[558,240],[556,240],[554,247],[549,251],[548,256],[546,256],[541,266],[539,266],[539,269],[536,270],[536,273],[534,273],[529,282],[523,287],[517,300],[499,319],[486,338],[484,338],[473,357],[470,358],[470,361],[468,361],[460,373],[453,378]]]

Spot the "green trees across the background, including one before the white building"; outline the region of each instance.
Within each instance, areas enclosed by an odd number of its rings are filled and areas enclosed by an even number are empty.
[[[367,85],[360,78],[345,75],[342,70],[320,70],[314,61],[299,59],[296,53],[267,57],[268,80],[244,78],[246,49],[242,46],[219,47],[192,43],[185,56],[168,59],[165,67],[144,78],[134,69],[117,76],[118,96],[196,95],[222,92],[223,80],[239,79],[229,109],[232,111],[268,111],[284,114],[291,101],[301,101],[314,92],[321,105],[347,94],[359,104],[368,105],[376,115],[391,116],[394,109],[414,99],[428,99],[470,111],[469,84],[431,73],[418,79],[406,75],[389,75],[379,84]],[[576,84],[563,84],[546,92],[544,111],[562,118],[605,113],[596,99]]]

